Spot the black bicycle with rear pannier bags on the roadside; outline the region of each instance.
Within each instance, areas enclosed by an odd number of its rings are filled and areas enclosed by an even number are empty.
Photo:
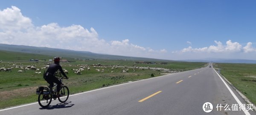
[[[63,77],[59,78],[59,80],[62,83]],[[57,84],[54,83],[54,86],[52,87],[52,92],[50,92],[49,86],[39,86],[38,89],[36,90],[36,94],[38,95],[38,103],[41,107],[45,108],[50,105],[52,102],[52,98],[56,100],[58,98],[58,101],[61,103],[64,103],[67,101],[69,97],[69,89],[67,86],[64,86],[64,84],[61,84],[61,90],[60,90],[60,95],[61,97],[56,96],[57,93]]]

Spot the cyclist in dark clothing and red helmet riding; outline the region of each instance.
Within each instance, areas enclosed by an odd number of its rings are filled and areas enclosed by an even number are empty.
[[[63,72],[62,67],[60,66],[60,58],[59,57],[55,57],[54,58],[54,63],[50,64],[47,71],[44,73],[44,80],[46,80],[50,86],[50,91],[52,91],[52,87],[53,87],[53,83],[57,84],[57,97],[60,97],[62,95],[60,95],[60,89],[61,89],[61,81],[58,80],[58,78],[56,78],[54,76],[55,72],[57,72],[58,70],[60,70],[61,74],[64,75],[67,79],[67,75]]]

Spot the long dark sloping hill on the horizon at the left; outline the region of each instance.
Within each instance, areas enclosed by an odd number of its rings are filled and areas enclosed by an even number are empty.
[[[60,56],[65,58],[76,59],[108,59],[108,60],[141,60],[141,61],[173,61],[173,60],[160,60],[153,58],[138,58],[119,55],[104,55],[93,52],[75,51],[68,49],[55,49],[47,47],[23,46],[23,45],[9,45],[0,43],[0,50],[21,52],[29,54],[47,55],[47,56]]]

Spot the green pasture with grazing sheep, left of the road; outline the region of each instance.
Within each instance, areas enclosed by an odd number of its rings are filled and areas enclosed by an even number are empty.
[[[42,74],[38,74],[35,72],[43,73],[44,71],[46,71],[46,69],[41,68],[47,66],[47,63],[52,62],[44,61],[44,59],[48,60],[52,57],[32,54],[23,55],[22,53],[8,54],[8,52],[2,52],[2,54],[3,53],[7,54],[5,54],[6,57],[0,59],[3,60],[0,63],[0,68],[13,67],[14,69],[12,69],[12,72],[0,72],[0,108],[3,109],[9,106],[36,102],[38,96],[35,94],[36,88],[38,88],[38,86],[47,86],[48,84],[43,79]],[[10,57],[14,56],[16,58],[8,58],[8,55]],[[32,59],[39,59],[39,62],[28,61],[31,56],[34,56]],[[4,60],[6,58],[8,58],[8,61]],[[160,64],[161,62],[156,62],[157,64],[136,64],[136,61],[133,60],[72,60],[73,62],[71,63],[61,63],[62,68],[69,71],[69,74],[67,76],[70,79],[64,80],[63,83],[65,83],[65,85],[69,87],[71,94],[85,92],[88,90],[98,89],[120,83],[127,83],[128,81],[136,81],[151,77],[157,77],[163,75],[163,73],[182,72],[191,69],[197,69],[204,67],[207,64],[170,61],[168,62],[168,64],[163,65]],[[99,63],[101,64],[101,66],[95,66]],[[41,70],[35,71],[20,69],[20,67],[26,68],[26,66],[31,65],[35,65],[36,68]],[[79,69],[80,66],[85,65],[87,65],[90,70],[84,68],[85,70],[81,72],[81,75],[76,75],[76,73],[72,71],[72,69]],[[116,66],[113,67],[114,65],[119,66],[117,66],[116,68]],[[18,68],[16,68],[15,66],[18,66]],[[147,69],[142,69],[143,67],[146,67]],[[163,71],[161,69],[148,69],[148,67],[165,68],[169,69],[169,72]],[[96,69],[99,69],[100,72],[98,72]],[[104,69],[104,71],[102,69]],[[122,72],[123,70],[127,69],[129,69],[127,72]],[[18,70],[23,70],[23,72],[18,73]]]

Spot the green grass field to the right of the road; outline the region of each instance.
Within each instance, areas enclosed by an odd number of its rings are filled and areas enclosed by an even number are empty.
[[[214,63],[213,66],[221,69],[221,75],[256,104],[256,64]]]

